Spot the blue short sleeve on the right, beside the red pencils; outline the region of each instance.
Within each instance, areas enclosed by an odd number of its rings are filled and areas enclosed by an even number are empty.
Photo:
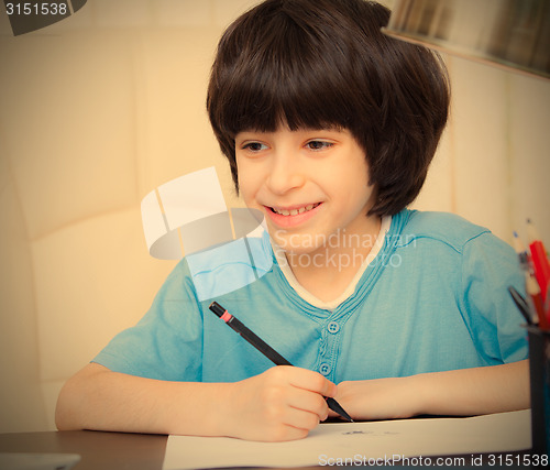
[[[490,232],[463,247],[462,308],[476,348],[488,364],[527,359],[525,323],[508,286],[524,292],[524,277],[510,245]]]

